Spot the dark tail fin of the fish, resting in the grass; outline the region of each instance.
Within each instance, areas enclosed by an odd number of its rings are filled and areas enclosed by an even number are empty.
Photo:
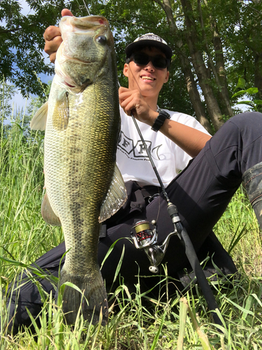
[[[60,286],[65,282],[73,283],[82,293],[71,286],[64,287],[62,310],[68,324],[74,324],[75,319],[80,312],[85,320],[92,324],[99,323],[100,314],[102,313],[102,325],[108,323],[108,297],[103,285],[103,278],[99,267],[92,276],[73,275],[66,270],[61,270],[59,286],[55,295],[57,301]]]

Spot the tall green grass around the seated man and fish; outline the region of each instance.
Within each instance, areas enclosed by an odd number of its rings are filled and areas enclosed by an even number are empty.
[[[53,295],[45,295],[41,326],[15,335],[6,331],[6,293],[15,276],[62,240],[61,228],[41,218],[43,195],[43,135],[30,132],[27,116],[18,113],[10,125],[1,123],[0,148],[0,349],[262,349],[261,231],[245,191],[240,188],[214,228],[231,251],[240,275],[231,289],[214,283],[223,325],[212,323],[201,292],[159,297],[141,295],[139,279],[132,295],[122,283],[109,297],[110,321],[89,325],[79,316],[74,327],[64,323]],[[172,283],[168,272],[163,280]],[[41,287],[39,287],[41,288]],[[167,294],[168,295],[168,294]],[[117,311],[116,311],[117,310]]]

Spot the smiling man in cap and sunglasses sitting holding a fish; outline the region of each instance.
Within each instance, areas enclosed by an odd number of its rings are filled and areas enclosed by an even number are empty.
[[[63,10],[62,15],[72,14]],[[61,43],[59,29],[49,27],[44,38],[45,51],[54,62]],[[257,213],[260,209],[257,207],[262,203],[257,202],[262,195],[262,188],[259,188],[261,185],[254,186],[253,179],[254,173],[259,174],[255,175],[256,179],[261,177],[262,169],[261,113],[235,116],[211,138],[196,119],[183,113],[159,110],[157,99],[163,83],[168,80],[171,55],[172,51],[166,42],[154,34],[145,34],[126,47],[124,75],[129,80],[129,87],[119,88],[122,129],[117,148],[117,164],[124,177],[129,199],[115,216],[105,222],[104,235],[101,235],[99,241],[100,265],[112,243],[117,242],[101,269],[109,288],[114,281],[123,246],[125,253],[120,273],[124,277],[124,283],[132,288],[138,273],[140,276],[152,276],[148,270],[150,263],[147,256],[129,241],[133,225],[140,220],[156,220],[159,242],[173,231],[166,200],[133,125],[131,113],[138,120],[140,130],[150,145],[168,197],[177,206],[182,224],[187,229],[199,258],[205,258],[209,253],[224,274],[236,272],[233,261],[219,244],[212,228],[240,186],[243,174],[247,178],[245,182],[248,184],[248,193],[255,200]],[[261,224],[261,218],[259,221]],[[57,276],[64,252],[64,244],[60,244],[43,255],[36,264]],[[184,246],[176,236],[170,239],[163,259],[165,262],[168,274],[174,278],[180,276],[186,286],[181,271],[189,267],[189,262]],[[215,271],[211,259],[206,269],[210,274]],[[157,284],[156,279],[157,277],[140,278],[141,288],[152,288]],[[48,281],[41,283],[49,293],[51,284]],[[17,332],[19,325],[31,323],[25,307],[33,316],[41,311],[41,297],[33,283],[20,288],[17,304],[15,314],[13,295],[10,318],[13,314],[15,318],[10,323],[10,328],[13,326],[14,332]]]

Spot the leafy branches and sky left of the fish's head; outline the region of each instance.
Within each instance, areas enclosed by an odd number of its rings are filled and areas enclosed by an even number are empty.
[[[43,57],[43,32],[57,24],[66,1],[27,0],[27,15],[17,0],[0,1],[0,72],[19,87],[23,95],[42,94],[36,74],[53,73],[53,67],[45,64]]]

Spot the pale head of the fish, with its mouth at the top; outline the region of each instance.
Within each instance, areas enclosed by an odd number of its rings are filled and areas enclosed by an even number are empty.
[[[83,90],[93,83],[96,71],[100,69],[98,59],[105,57],[113,43],[108,20],[103,16],[65,16],[61,18],[59,27],[63,43],[57,50],[55,72],[65,87]],[[97,36],[106,38],[106,43],[101,44]],[[96,46],[99,48],[94,50]],[[93,48],[90,52],[89,47]]]

